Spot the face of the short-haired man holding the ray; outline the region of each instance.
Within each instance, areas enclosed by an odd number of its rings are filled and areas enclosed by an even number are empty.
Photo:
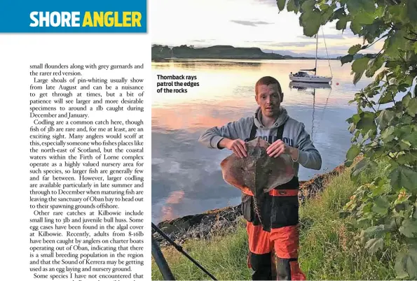
[[[280,113],[282,93],[279,92],[277,84],[259,85],[255,99],[261,107],[262,115],[277,117]]]

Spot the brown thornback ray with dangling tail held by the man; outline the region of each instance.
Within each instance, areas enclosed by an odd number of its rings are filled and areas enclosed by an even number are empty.
[[[242,192],[254,195],[254,210],[262,224],[260,207],[267,192],[283,185],[294,177],[293,162],[288,154],[269,157],[266,148],[271,145],[262,138],[246,143],[247,157],[239,158],[234,153],[221,161],[223,179]]]

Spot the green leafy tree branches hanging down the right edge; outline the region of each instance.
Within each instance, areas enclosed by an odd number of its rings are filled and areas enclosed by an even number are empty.
[[[283,10],[285,1],[278,2]],[[381,252],[390,237],[402,243],[397,277],[417,278],[417,1],[289,0],[287,10],[299,14],[306,36],[335,21],[336,29],[363,38],[341,58],[342,65],[352,63],[354,84],[363,75],[374,78],[350,101],[357,113],[347,120],[353,145],[346,166],[357,156],[362,160],[351,174],[359,187],[341,215],[352,215],[371,254]],[[385,42],[378,54],[355,59],[380,40]],[[360,182],[381,163],[384,173]]]

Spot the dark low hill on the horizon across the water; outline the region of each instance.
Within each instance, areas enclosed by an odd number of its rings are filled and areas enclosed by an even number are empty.
[[[172,49],[167,45],[152,46],[152,59],[170,57],[181,59],[314,59],[311,57],[283,56],[262,52],[260,48],[235,48],[229,45],[215,45],[207,48],[180,45]]]

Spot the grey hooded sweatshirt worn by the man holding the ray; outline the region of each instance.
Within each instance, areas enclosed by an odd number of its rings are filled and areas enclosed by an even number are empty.
[[[240,120],[230,122],[223,127],[213,127],[205,131],[199,138],[199,142],[209,148],[218,148],[219,142],[223,138],[235,140],[240,138],[245,140],[249,138],[252,124],[257,126],[256,136],[264,138],[268,143],[277,141],[277,129],[285,122],[284,131],[282,133],[282,141],[292,147],[299,149],[299,160],[294,162],[294,172],[298,176],[299,164],[305,168],[320,170],[322,167],[322,157],[313,142],[310,135],[304,129],[304,124],[289,117],[287,110],[281,106],[280,115],[271,127],[265,127],[260,121],[259,116],[261,108],[258,108],[251,117],[242,117]]]

